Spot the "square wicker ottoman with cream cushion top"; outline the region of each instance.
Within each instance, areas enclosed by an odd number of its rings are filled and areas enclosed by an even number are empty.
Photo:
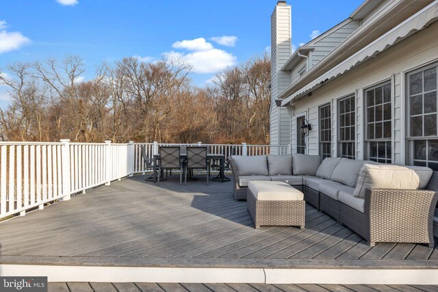
[[[282,181],[250,181],[246,207],[260,226],[305,226],[306,202],[298,189]]]

